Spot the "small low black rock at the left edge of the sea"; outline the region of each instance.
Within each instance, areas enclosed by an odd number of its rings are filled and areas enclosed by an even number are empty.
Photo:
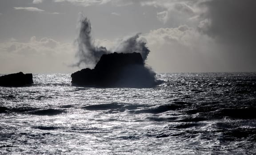
[[[0,77],[0,86],[20,87],[33,83],[32,74],[24,74],[22,72],[8,74]]]

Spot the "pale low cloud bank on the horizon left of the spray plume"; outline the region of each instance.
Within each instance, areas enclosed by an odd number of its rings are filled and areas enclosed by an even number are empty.
[[[75,48],[72,43],[60,43],[54,39],[31,37],[27,43],[0,43],[0,73],[72,73]]]

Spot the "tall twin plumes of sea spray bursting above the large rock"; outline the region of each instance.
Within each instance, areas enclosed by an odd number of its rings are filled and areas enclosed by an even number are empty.
[[[150,52],[146,43],[139,39],[140,33],[125,39],[121,40],[121,42],[114,48],[114,51],[107,50],[106,47],[103,46],[95,46],[93,44],[93,39],[91,36],[91,23],[87,17],[84,15],[80,15],[79,19],[79,35],[76,39],[76,43],[78,45],[78,50],[76,53],[76,57],[79,61],[74,66],[86,66],[93,68],[96,63],[100,60],[100,57],[103,54],[109,53],[140,53],[143,61],[147,59],[147,56]]]

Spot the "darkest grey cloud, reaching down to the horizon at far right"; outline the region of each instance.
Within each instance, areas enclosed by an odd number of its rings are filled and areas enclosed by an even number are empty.
[[[200,7],[199,31],[215,39],[233,69],[256,71],[256,1],[208,0]]]

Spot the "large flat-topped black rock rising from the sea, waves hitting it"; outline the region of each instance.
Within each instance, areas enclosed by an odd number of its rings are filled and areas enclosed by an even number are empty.
[[[94,69],[71,75],[72,85],[146,88],[156,85],[155,73],[144,66],[140,53],[103,54]]]

